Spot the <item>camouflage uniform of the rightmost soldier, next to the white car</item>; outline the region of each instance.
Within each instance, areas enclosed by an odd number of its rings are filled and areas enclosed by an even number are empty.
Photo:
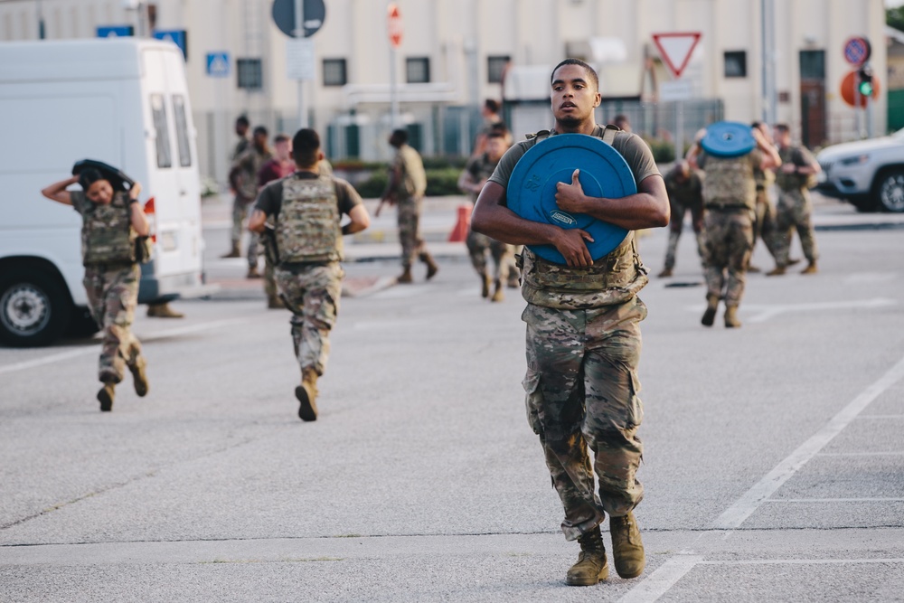
[[[803,147],[787,146],[779,149],[782,165],[804,167],[814,163],[813,156]],[[807,190],[809,175],[785,174],[779,171],[776,176],[778,187],[778,212],[776,218],[775,256],[778,266],[787,266],[788,253],[791,250],[791,232],[797,231],[804,255],[811,264],[819,259],[816,249],[816,237],[813,230],[813,203]]]

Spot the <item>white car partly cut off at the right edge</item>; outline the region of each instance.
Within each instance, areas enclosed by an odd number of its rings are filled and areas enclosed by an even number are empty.
[[[816,189],[861,212],[904,212],[904,129],[889,137],[827,146]]]

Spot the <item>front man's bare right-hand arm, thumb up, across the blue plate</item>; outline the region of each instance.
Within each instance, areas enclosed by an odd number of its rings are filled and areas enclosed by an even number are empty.
[[[584,194],[578,175],[579,170],[575,170],[571,184],[556,184],[556,203],[565,212],[586,213],[629,231],[668,226],[672,210],[661,175],[647,176],[637,186],[637,193],[620,199],[589,197]]]

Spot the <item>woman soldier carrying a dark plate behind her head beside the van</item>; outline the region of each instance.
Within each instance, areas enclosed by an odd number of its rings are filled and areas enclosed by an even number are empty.
[[[77,183],[80,191],[66,190]],[[52,201],[71,205],[81,216],[82,282],[91,316],[103,330],[98,372],[104,384],[98,391],[103,412],[113,410],[115,388],[126,368],[132,373],[139,396],[146,396],[149,388],[147,363],[131,330],[141,278],[137,239],[147,237],[150,228],[138,203],[140,192],[138,183],[128,190],[114,188],[108,175],[90,167],[41,191]]]

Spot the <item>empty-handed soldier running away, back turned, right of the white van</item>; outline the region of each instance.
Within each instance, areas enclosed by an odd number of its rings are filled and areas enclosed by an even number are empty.
[[[320,137],[303,128],[292,138],[297,171],[261,190],[251,213],[250,231],[263,233],[272,218],[276,242],[275,276],[279,294],[292,312],[292,342],[301,369],[295,389],[298,417],[317,419],[317,378],[329,358],[345,275],[343,235],[363,231],[370,217],[351,184],[319,169]],[[340,225],[343,214],[350,219]]]

